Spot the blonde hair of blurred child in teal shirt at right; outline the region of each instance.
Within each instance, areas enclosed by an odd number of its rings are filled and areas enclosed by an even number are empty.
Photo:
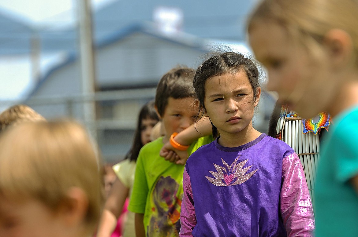
[[[257,21],[281,25],[312,54],[320,54],[330,29],[342,29],[352,38],[354,61],[358,58],[357,0],[263,0],[248,19],[249,32]]]

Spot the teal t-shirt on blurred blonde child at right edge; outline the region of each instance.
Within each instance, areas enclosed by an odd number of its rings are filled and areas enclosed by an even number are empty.
[[[338,115],[323,142],[315,191],[316,237],[358,236],[358,107]]]

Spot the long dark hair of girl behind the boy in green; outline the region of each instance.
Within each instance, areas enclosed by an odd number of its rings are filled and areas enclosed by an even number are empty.
[[[134,135],[134,140],[131,149],[127,153],[125,159],[129,159],[130,161],[137,161],[137,157],[139,155],[140,149],[144,146],[141,140],[141,127],[143,119],[154,119],[159,121],[158,114],[154,108],[154,100],[143,105],[142,109],[139,112],[137,128]]]

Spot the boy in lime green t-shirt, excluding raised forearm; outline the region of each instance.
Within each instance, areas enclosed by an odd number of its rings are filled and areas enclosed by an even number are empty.
[[[166,161],[159,153],[171,134],[188,128],[197,119],[194,74],[194,69],[174,68],[158,83],[155,107],[167,135],[144,145],[137,159],[128,208],[136,213],[137,237],[179,236],[184,166]],[[188,148],[188,154],[212,140],[211,136],[199,138]]]

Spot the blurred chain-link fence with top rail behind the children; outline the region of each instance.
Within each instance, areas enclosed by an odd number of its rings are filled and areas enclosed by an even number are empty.
[[[46,119],[70,118],[86,126],[96,138],[102,158],[106,163],[124,159],[132,145],[139,110],[154,99],[155,88],[96,92],[94,95],[63,95],[30,97],[23,101],[0,101],[1,111],[13,104],[26,104]],[[94,103],[95,114],[84,118],[83,107]],[[263,93],[254,118],[254,127],[267,132],[268,120],[275,99]]]

